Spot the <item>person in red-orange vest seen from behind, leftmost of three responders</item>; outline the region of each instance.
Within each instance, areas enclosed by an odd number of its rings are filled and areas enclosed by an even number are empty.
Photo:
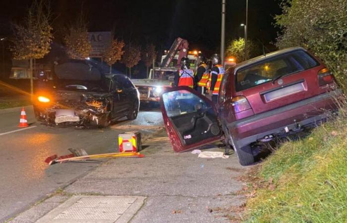
[[[189,68],[189,59],[182,57],[181,68],[174,76],[174,86],[188,86],[193,88],[194,86],[194,71]]]

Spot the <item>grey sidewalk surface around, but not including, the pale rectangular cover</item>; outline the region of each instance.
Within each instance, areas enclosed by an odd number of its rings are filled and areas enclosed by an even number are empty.
[[[248,167],[241,167],[235,155],[229,159],[201,159],[189,152],[175,154],[163,131],[147,139],[144,148],[141,153],[145,158],[109,160],[67,186],[63,194],[146,197],[132,216],[134,223],[219,222],[238,214],[218,211],[245,202],[245,197],[237,193],[245,183],[238,179]],[[30,213],[41,213],[42,217],[58,205],[61,203],[52,205],[51,210],[36,205],[11,222],[34,220]]]

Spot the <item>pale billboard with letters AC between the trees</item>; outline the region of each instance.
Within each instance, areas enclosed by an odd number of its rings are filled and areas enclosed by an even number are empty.
[[[111,32],[88,32],[88,41],[92,45],[90,57],[100,57],[104,51],[111,45]]]

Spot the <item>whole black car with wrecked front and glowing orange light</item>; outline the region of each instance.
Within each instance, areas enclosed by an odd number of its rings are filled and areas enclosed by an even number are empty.
[[[53,84],[35,94],[37,120],[51,126],[107,127],[111,120],[137,117],[139,93],[128,77],[104,74],[89,60],[68,60],[53,70]]]

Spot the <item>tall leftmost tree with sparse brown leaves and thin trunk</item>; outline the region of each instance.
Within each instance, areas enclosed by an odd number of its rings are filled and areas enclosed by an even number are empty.
[[[14,59],[30,60],[30,93],[33,95],[33,59],[47,55],[53,41],[50,5],[34,0],[22,24],[13,24],[10,50]]]

